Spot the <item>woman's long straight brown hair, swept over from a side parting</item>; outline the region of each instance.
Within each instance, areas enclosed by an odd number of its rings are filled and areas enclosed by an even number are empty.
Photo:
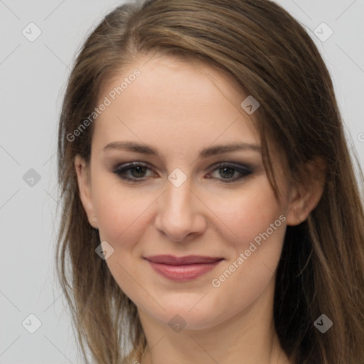
[[[153,53],[228,71],[260,103],[255,113],[264,167],[279,198],[269,145],[292,181],[309,183],[306,162],[326,164],[323,196],[288,226],[279,261],[274,322],[295,364],[364,363],[364,214],[333,84],[304,28],[269,0],[149,0],[117,7],[77,55],[60,114],[58,181],[63,202],[57,269],[85,360],[132,363],[146,346],[137,308],[95,254],[98,231],[79,197],[75,155],[90,161],[90,117],[105,82]],[[142,77],[142,75],[141,75]],[[360,183],[363,173],[358,171]],[[325,314],[333,327],[321,333]],[[131,346],[130,346],[131,344]],[[129,345],[129,346],[128,346]],[[130,351],[130,355],[128,352]]]

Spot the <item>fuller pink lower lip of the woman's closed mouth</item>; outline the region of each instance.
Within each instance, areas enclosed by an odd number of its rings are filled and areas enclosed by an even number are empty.
[[[173,281],[190,281],[196,279],[203,274],[213,270],[221,260],[213,263],[186,264],[186,265],[168,265],[148,261],[151,267],[163,277],[172,279]]]

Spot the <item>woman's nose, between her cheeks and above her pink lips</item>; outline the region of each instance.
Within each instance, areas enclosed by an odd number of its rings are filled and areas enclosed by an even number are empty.
[[[166,181],[166,191],[157,203],[156,230],[170,240],[181,242],[188,235],[200,235],[205,230],[204,205],[191,190],[190,178],[178,187]]]

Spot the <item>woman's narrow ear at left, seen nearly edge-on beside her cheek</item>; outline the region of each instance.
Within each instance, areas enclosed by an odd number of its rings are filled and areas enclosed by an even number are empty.
[[[90,171],[87,164],[82,157],[77,154],[75,156],[75,171],[77,175],[77,184],[80,191],[80,200],[85,213],[89,220],[90,225],[97,229],[97,219],[95,216],[95,210],[92,203],[92,194],[90,186]]]

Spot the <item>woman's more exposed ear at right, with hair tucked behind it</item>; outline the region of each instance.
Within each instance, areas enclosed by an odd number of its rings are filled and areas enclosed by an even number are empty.
[[[299,225],[319,203],[325,186],[325,163],[321,158],[306,164],[309,173],[305,183],[291,186],[287,225]]]

